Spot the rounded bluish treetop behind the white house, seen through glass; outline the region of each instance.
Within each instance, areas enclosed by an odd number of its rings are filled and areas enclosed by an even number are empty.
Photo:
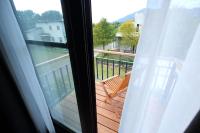
[[[48,22],[61,21],[62,15],[59,11],[49,10],[41,14],[40,20]]]

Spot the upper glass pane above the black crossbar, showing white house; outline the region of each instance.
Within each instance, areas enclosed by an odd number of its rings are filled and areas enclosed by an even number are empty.
[[[61,42],[62,39],[63,43],[67,41],[60,1],[14,0],[14,2],[26,40]]]

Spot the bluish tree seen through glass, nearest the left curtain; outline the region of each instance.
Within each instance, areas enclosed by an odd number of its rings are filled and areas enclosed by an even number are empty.
[[[23,31],[34,28],[40,19],[40,15],[34,13],[32,10],[17,11],[17,14]]]

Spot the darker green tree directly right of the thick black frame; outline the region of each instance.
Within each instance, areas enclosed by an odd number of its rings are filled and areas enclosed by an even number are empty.
[[[115,37],[114,26],[107,22],[105,18],[101,19],[99,23],[93,25],[93,38],[94,45],[102,45],[105,49],[105,45],[111,43]]]

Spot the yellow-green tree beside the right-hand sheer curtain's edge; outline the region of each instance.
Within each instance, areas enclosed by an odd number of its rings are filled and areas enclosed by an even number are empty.
[[[120,44],[132,47],[133,52],[139,40],[139,32],[137,32],[134,21],[128,20],[121,24],[118,30],[122,38]]]

